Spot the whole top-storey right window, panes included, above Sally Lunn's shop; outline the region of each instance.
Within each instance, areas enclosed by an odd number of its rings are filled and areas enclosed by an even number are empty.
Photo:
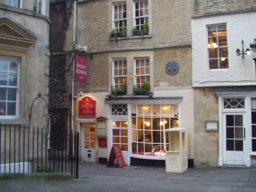
[[[134,28],[143,30],[145,23],[148,23],[148,1],[134,1]]]

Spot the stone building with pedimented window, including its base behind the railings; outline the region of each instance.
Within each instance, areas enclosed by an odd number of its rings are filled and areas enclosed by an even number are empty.
[[[49,125],[49,24],[48,0],[0,1],[1,173],[18,158],[30,168],[35,139],[41,150],[35,130]]]

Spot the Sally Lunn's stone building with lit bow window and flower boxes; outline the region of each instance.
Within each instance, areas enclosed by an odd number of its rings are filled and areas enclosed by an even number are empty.
[[[67,28],[62,33],[65,41],[62,41],[62,46],[58,49],[74,49],[72,42],[74,31],[75,45],[87,47],[86,53],[80,53],[88,59],[87,83],[74,83],[75,96],[77,96],[74,100],[74,130],[82,135],[82,160],[106,162],[111,147],[119,145],[126,164],[160,165],[165,160],[163,127],[168,129],[179,126],[188,129],[188,164],[194,166],[190,29],[193,5],[190,1],[177,3],[151,0],[121,3],[105,0],[75,1],[75,4],[76,7],[73,4],[71,10],[69,1],[52,1],[51,7],[55,10],[65,7],[65,15],[69,15],[65,24]],[[122,10],[118,11],[118,14],[123,18],[115,21],[112,15],[121,7]],[[179,11],[181,7],[183,7],[182,12]],[[77,11],[75,19],[74,8]],[[69,14],[71,11],[72,14]],[[135,11],[140,12],[136,13],[140,18],[135,18]],[[51,12],[52,18],[56,18],[56,15]],[[75,30],[72,28],[74,20]],[[139,20],[140,24],[138,24]],[[54,23],[54,20],[52,22]],[[136,25],[142,29],[145,22],[148,24],[148,34],[133,35]],[[122,25],[117,27],[119,32],[121,28],[126,28],[125,36],[116,38],[110,36],[117,23]],[[51,45],[56,46],[54,39],[50,42]],[[136,72],[136,61],[148,66],[145,71],[141,70],[143,74]],[[123,69],[120,69],[123,70],[123,78],[117,77],[114,72],[114,63],[121,62],[125,63]],[[176,69],[175,74],[168,74],[167,64],[176,65],[179,69]],[[141,69],[143,67],[140,66]],[[139,78],[142,80],[138,80]],[[116,83],[118,80],[119,83]],[[144,81],[150,83],[147,95],[134,95],[134,86],[143,87]],[[122,89],[123,83],[127,83],[127,94],[123,96],[113,94],[111,86]],[[84,92],[82,97],[79,97],[80,90]],[[70,91],[66,96],[71,93]],[[79,115],[79,103],[88,97],[96,101],[94,117]],[[117,113],[113,113],[114,111]],[[99,129],[102,130],[102,121],[106,123],[104,135],[99,134]],[[135,121],[137,121],[136,126]],[[165,122],[164,125],[160,125],[160,121]],[[150,143],[145,143],[147,135],[151,137]],[[144,141],[139,140],[141,136]],[[147,145],[150,149],[145,147]],[[158,147],[158,153],[154,154],[154,147]]]

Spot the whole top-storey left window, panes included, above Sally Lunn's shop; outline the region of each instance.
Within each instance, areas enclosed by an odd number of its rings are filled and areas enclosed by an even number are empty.
[[[126,32],[126,3],[113,4],[112,18],[112,28],[118,32]]]

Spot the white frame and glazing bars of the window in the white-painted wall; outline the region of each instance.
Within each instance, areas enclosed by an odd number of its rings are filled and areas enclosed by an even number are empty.
[[[226,34],[225,35],[219,35],[218,34],[218,27],[219,26],[224,26],[224,25],[226,27]],[[216,27],[217,34],[213,35],[213,36],[209,36],[209,30],[208,30],[209,27]],[[218,45],[218,43],[221,41],[221,40],[219,40],[220,37],[225,37],[226,36],[226,40],[227,40],[227,24],[223,23],[223,24],[207,25],[206,30],[207,30],[207,47],[208,47],[208,49],[207,49],[208,69],[209,70],[226,70],[226,69],[229,69],[228,51],[226,53],[227,54],[226,56],[225,55],[221,56],[221,53],[220,53],[221,49],[228,49],[228,46],[227,46],[227,44],[226,44],[226,46],[219,46]],[[210,43],[209,42],[210,38],[212,38],[212,39],[216,38],[216,42]],[[214,49],[216,49],[216,51],[217,51],[217,57],[210,58],[210,50],[214,50]],[[223,52],[223,53],[225,53],[225,52]],[[214,59],[218,59],[218,68],[210,68],[210,60],[214,60]],[[221,62],[224,62],[225,60],[227,62],[227,68],[222,68]]]

